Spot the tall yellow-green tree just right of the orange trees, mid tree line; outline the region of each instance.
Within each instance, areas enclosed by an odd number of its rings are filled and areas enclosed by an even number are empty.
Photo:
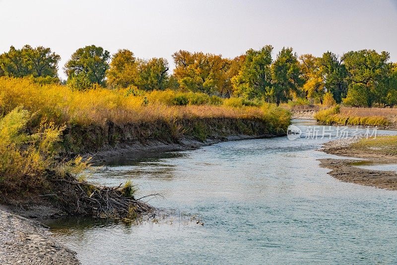
[[[232,79],[236,95],[246,98],[266,97],[271,87],[271,52],[266,45],[261,50],[250,49],[245,53],[239,74]]]

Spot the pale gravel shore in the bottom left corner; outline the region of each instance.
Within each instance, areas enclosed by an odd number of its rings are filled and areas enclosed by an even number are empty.
[[[57,243],[46,227],[0,209],[0,264],[79,264],[75,253]]]

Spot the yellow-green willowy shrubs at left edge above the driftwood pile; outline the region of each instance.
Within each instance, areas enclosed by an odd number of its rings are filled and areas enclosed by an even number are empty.
[[[43,120],[33,134],[25,129],[32,114],[17,107],[0,118],[0,190],[35,191],[48,189],[48,172],[61,176],[78,175],[85,170],[81,160],[66,168],[57,161],[58,142],[64,127]]]

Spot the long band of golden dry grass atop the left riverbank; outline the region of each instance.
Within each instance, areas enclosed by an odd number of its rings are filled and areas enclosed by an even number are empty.
[[[183,118],[268,119],[269,115],[275,115],[280,123],[289,119],[287,111],[271,104],[230,107],[219,105],[223,101],[217,99],[213,99],[216,104],[211,104],[210,97],[194,93],[186,93],[186,96],[188,100],[199,101],[198,105],[173,105],[173,98],[181,94],[175,91],[131,93],[129,89],[105,88],[80,92],[60,85],[40,86],[28,79],[0,78],[0,112],[4,115],[22,105],[35,113],[33,125],[38,125],[42,119],[59,125],[102,125],[106,121],[125,124]]]

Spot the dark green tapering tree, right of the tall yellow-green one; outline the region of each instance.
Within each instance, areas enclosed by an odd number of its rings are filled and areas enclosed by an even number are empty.
[[[291,99],[292,92],[298,92],[304,84],[300,65],[292,48],[282,48],[271,66],[271,92],[277,105]]]

